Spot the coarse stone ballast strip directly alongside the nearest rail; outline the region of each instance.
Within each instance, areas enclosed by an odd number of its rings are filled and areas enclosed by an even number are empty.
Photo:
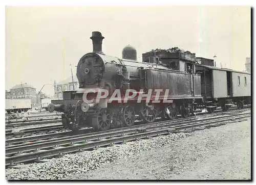
[[[63,179],[68,176],[84,174],[90,170],[108,164],[119,158],[134,153],[160,148],[174,140],[190,136],[190,134],[178,133],[168,136],[160,136],[151,140],[140,140],[127,142],[105,148],[98,148],[93,151],[83,151],[74,154],[67,154],[63,157],[51,158],[45,163],[33,163],[19,165],[20,168],[6,169],[6,179]]]

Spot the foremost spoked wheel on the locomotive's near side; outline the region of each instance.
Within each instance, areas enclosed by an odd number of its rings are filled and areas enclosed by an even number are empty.
[[[108,130],[111,127],[112,117],[106,109],[101,109],[98,115],[98,129]]]

